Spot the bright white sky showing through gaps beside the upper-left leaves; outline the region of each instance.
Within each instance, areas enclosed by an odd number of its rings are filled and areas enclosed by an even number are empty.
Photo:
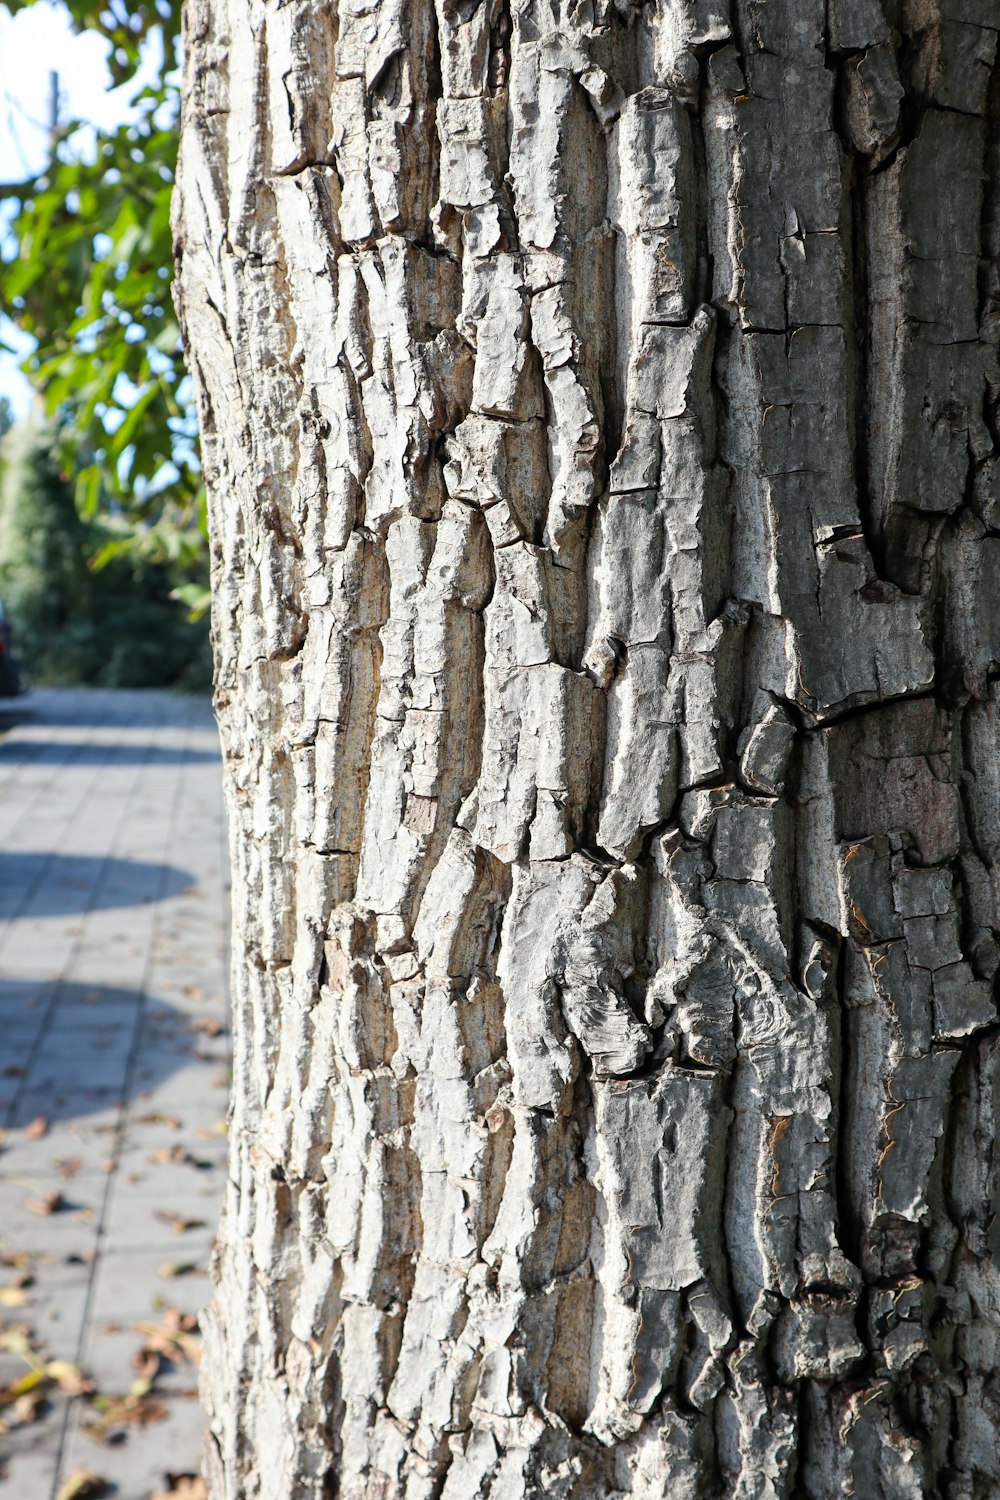
[[[105,129],[127,120],[129,99],[153,81],[153,60],[138,80],[109,90],[108,50],[93,32],[75,36],[63,6],[49,0],[39,0],[15,16],[0,6],[0,182],[22,182],[45,166],[52,69],[60,82],[60,118],[88,120]],[[90,134],[75,138],[75,147],[84,153],[90,148]],[[0,236],[9,218],[9,201],[0,200]],[[0,340],[21,351],[0,350],[0,396],[21,416],[31,405],[31,392],[16,366],[30,344],[3,316],[1,308]]]

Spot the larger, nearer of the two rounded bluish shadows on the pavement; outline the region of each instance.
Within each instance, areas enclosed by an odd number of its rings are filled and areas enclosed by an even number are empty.
[[[183,1011],[112,986],[0,980],[0,1120],[13,1130],[124,1098],[141,1112],[142,1095],[205,1046]]]

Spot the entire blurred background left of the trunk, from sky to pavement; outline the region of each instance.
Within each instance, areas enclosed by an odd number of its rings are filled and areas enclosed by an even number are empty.
[[[0,1500],[201,1500],[228,856],[178,0],[0,0]]]

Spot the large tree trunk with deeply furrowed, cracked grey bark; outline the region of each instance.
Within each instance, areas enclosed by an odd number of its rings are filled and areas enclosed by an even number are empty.
[[[997,0],[189,0],[217,1500],[1000,1496]]]

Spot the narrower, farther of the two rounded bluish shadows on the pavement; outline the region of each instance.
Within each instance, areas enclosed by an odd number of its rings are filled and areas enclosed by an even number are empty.
[[[0,918],[75,916],[142,906],[195,888],[187,870],[103,855],[0,852]]]

